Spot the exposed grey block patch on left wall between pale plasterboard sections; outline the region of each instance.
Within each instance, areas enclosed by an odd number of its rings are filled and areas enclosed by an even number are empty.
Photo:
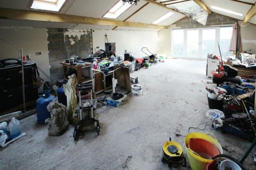
[[[82,58],[92,54],[92,31],[47,28],[50,78],[52,82],[63,79],[63,68],[60,62],[71,56]]]

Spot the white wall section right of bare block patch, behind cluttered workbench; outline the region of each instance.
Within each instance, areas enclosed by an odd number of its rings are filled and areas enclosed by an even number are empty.
[[[141,51],[142,47],[148,47],[153,54],[158,52],[158,32],[133,30],[94,30],[92,31],[93,48],[100,47],[99,49],[105,50],[105,33],[108,35],[108,42],[116,42],[118,56],[124,56],[124,50],[127,50],[132,52],[133,56],[142,58],[146,56]]]

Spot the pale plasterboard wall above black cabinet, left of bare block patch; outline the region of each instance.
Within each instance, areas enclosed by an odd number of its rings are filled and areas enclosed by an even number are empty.
[[[23,48],[23,54],[30,55],[37,67],[50,77],[46,28],[0,27],[0,36],[14,48],[18,50]],[[1,39],[0,49],[0,60],[5,58],[20,59],[20,54]],[[41,55],[36,55],[36,52],[41,52]],[[49,81],[42,72],[40,72],[40,76],[44,81]]]

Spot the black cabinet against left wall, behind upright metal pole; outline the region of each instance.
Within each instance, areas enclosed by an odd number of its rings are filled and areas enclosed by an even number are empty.
[[[36,63],[24,64],[26,103],[38,98],[37,88],[33,88],[33,77],[35,75]],[[0,111],[11,109],[22,103],[21,65],[0,67]]]

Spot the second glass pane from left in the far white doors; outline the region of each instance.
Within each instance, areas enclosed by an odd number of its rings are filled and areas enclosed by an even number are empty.
[[[199,58],[199,30],[187,30],[187,57]]]

